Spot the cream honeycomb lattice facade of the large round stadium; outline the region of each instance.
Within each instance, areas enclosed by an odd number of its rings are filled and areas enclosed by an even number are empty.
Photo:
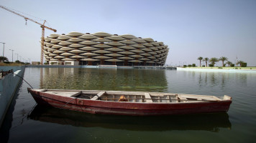
[[[70,32],[50,34],[44,41],[45,61],[48,63],[76,61],[81,65],[163,65],[169,51],[163,42],[130,34]]]

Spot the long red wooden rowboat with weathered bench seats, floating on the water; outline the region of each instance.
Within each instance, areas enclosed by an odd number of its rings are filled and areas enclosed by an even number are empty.
[[[232,98],[161,92],[28,89],[37,104],[91,114],[133,116],[228,112]]]

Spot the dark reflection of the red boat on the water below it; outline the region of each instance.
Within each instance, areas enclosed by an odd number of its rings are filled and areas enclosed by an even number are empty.
[[[132,131],[205,130],[219,132],[221,128],[231,129],[232,126],[227,113],[129,117],[87,114],[42,107],[38,104],[28,115],[28,118],[40,122],[67,124],[74,127],[102,127]]]

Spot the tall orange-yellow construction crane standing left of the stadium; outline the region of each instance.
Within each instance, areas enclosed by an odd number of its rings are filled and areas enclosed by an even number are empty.
[[[41,38],[41,60],[40,60],[40,64],[42,65],[43,58],[44,58],[45,28],[46,28],[46,29],[50,29],[50,30],[52,30],[52,31],[54,31],[54,32],[56,32],[57,30],[45,26],[46,20],[44,21],[43,24],[40,24],[39,22],[37,22],[37,21],[35,21],[35,20],[33,20],[33,19],[29,19],[29,18],[27,18],[26,16],[23,16],[22,14],[18,14],[18,13],[15,12],[15,11],[12,11],[12,10],[10,10],[10,9],[7,9],[5,6],[1,6],[1,5],[0,5],[0,8],[4,9],[4,10],[6,10],[6,11],[10,11],[10,12],[12,12],[13,14],[17,14],[18,16],[22,16],[22,17],[25,19],[26,24],[27,24],[27,20],[29,20],[29,21],[35,22],[36,24],[39,24],[39,25],[41,26],[41,28],[42,28],[42,38]]]

